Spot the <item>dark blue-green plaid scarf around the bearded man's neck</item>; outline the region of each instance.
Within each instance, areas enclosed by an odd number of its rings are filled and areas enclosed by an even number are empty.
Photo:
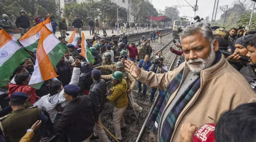
[[[215,54],[215,61],[212,63],[212,65],[215,65],[217,62],[219,62],[220,58],[221,58],[221,53],[218,50]],[[164,91],[163,96],[158,101],[158,104],[154,108],[154,111],[152,112],[149,118],[149,122],[147,123],[147,126],[151,128],[154,134],[157,134],[158,128],[161,127],[159,122],[163,114],[163,110],[166,107],[170,96],[175,92],[176,89],[178,89],[179,84],[182,81],[183,72],[184,72],[184,68],[168,84],[167,88]],[[179,97],[177,102],[171,108],[171,111],[168,112],[166,119],[162,121],[163,127],[161,128],[162,130],[161,130],[159,142],[169,142],[171,140],[171,136],[174,131],[176,120],[178,119],[181,111],[183,111],[184,107],[188,104],[188,102],[195,95],[195,93],[199,88],[200,88],[200,77],[196,78],[195,81],[191,83],[190,86],[183,92],[183,94]]]

